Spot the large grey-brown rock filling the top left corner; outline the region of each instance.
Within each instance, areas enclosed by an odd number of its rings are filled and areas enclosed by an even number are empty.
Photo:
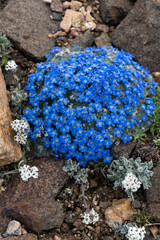
[[[42,0],[10,0],[0,12],[1,31],[26,56],[42,60],[55,46],[47,35],[59,25],[50,15],[50,7]]]

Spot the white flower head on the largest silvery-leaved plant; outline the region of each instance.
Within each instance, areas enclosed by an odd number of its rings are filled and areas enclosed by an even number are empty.
[[[125,190],[136,192],[140,188],[141,182],[133,173],[127,173],[125,179],[122,181],[122,185]]]

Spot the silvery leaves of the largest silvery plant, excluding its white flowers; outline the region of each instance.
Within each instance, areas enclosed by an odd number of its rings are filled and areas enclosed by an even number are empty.
[[[148,189],[151,187],[150,177],[153,176],[153,172],[150,171],[153,167],[152,161],[150,162],[142,162],[141,158],[133,158],[126,159],[125,157],[120,157],[119,160],[114,160],[109,169],[107,177],[114,181],[114,189],[118,187],[123,187],[123,180],[125,179],[127,173],[133,173],[136,178],[142,183],[144,189]],[[125,190],[128,194],[130,200],[134,200],[132,191]]]

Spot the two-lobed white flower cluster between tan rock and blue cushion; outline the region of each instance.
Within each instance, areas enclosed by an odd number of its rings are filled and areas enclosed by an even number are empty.
[[[25,144],[29,132],[28,122],[26,120],[16,119],[12,121],[11,127],[15,132],[17,132],[17,134],[14,136],[14,140],[20,144]]]

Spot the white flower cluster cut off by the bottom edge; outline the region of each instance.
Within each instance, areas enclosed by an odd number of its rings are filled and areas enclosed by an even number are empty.
[[[128,233],[126,235],[126,237],[129,240],[143,240],[145,237],[145,228],[138,228],[138,227],[130,227],[128,229]]]

